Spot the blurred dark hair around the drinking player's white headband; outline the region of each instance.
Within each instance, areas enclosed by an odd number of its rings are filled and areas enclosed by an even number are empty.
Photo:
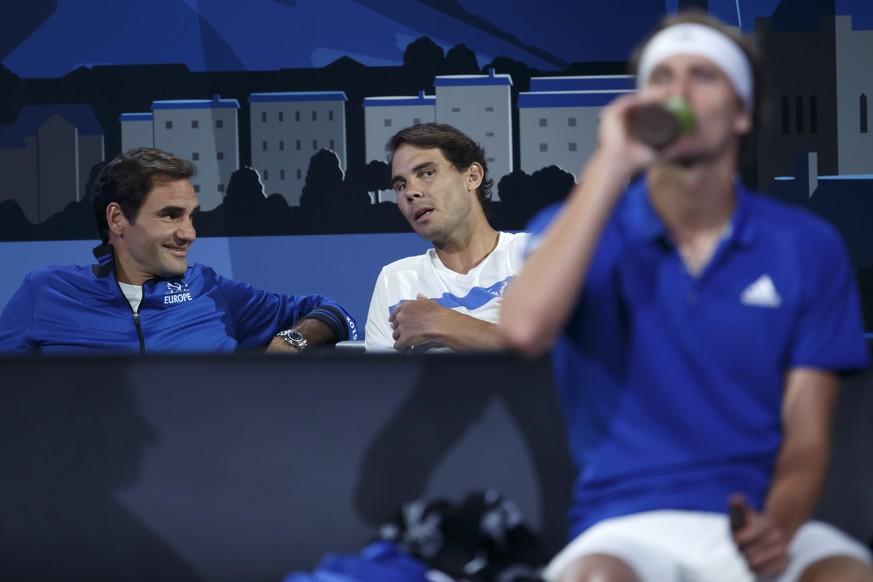
[[[672,16],[665,16],[664,18],[662,18],[658,25],[655,27],[655,29],[652,30],[652,32],[645,38],[645,40],[643,40],[642,43],[640,43],[640,45],[634,51],[633,57],[631,58],[630,62],[631,73],[636,76],[643,49],[645,49],[646,45],[649,44],[649,41],[652,40],[652,37],[654,37],[665,28],[673,26],[674,24],[682,23],[702,24],[704,26],[714,28],[715,30],[721,32],[732,41],[734,41],[736,45],[740,48],[740,50],[743,51],[743,54],[746,55],[746,58],[749,60],[749,65],[752,67],[752,82],[755,84],[754,93],[752,95],[752,105],[755,108],[752,112],[753,130],[752,132],[750,132],[750,134],[754,133],[755,130],[761,127],[761,123],[765,114],[764,65],[761,56],[758,53],[758,49],[754,45],[750,37],[743,35],[736,28],[727,26],[721,20],[715,18],[714,16],[710,16],[707,12],[700,10],[699,8],[683,10]]]

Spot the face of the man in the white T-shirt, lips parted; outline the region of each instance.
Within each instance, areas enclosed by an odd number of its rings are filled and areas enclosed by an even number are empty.
[[[439,148],[403,144],[392,157],[391,176],[400,212],[419,236],[436,245],[465,236],[484,214],[476,194],[482,170],[476,163],[459,171]]]

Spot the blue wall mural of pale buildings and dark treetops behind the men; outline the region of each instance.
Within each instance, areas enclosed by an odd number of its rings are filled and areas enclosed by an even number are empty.
[[[665,13],[754,33],[770,97],[756,188],[873,264],[867,0],[34,0],[0,22],[0,241],[96,238],[88,184],[136,145],[193,159],[207,237],[409,232],[384,144],[416,121],[485,146],[491,218],[563,198],[597,112]]]

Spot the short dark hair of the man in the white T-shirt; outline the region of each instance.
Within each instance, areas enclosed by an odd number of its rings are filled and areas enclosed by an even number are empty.
[[[388,142],[391,155],[388,164],[394,160],[394,152],[404,144],[421,149],[439,149],[443,156],[457,169],[464,171],[473,163],[482,166],[482,183],[476,190],[483,210],[491,204],[491,187],[494,180],[488,177],[488,162],[485,149],[473,141],[463,131],[445,123],[419,123],[401,129]]]

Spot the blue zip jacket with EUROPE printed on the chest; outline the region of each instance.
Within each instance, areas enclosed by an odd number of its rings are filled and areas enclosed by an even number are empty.
[[[98,264],[31,272],[0,314],[0,354],[232,352],[270,343],[303,318],[327,324],[337,341],[357,339],[357,324],[321,295],[280,295],[194,264],[174,279],[143,285],[134,312],[115,278],[110,245]]]

